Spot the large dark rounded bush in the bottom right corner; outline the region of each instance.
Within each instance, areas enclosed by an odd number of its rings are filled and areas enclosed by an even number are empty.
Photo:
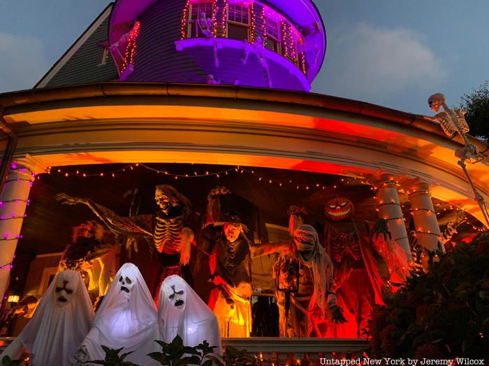
[[[489,349],[489,233],[460,243],[429,273],[374,310],[371,357],[485,358]],[[431,355],[431,356],[430,356]]]

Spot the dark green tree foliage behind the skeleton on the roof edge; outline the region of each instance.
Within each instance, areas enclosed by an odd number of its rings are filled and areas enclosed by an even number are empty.
[[[467,111],[465,119],[470,127],[470,134],[489,141],[489,82],[463,96],[460,108]]]

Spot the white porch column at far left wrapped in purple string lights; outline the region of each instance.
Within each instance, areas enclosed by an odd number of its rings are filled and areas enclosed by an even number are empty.
[[[32,162],[28,156],[11,163],[0,195],[0,299],[7,290],[17,242],[22,238],[20,229],[36,174]]]

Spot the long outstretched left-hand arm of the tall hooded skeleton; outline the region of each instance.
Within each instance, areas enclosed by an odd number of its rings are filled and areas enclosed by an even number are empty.
[[[56,195],[57,201],[61,201],[61,204],[75,205],[75,204],[85,204],[92,210],[92,212],[100,218],[103,223],[112,231],[115,235],[120,234],[143,234],[147,236],[152,236],[152,232],[142,225],[136,223],[133,218],[123,218],[117,215],[114,211],[96,204],[91,199],[81,198],[81,197],[70,197],[66,193],[59,193]]]

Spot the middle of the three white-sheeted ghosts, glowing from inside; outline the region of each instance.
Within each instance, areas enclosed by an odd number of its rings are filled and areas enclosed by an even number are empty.
[[[97,310],[94,326],[83,340],[76,359],[103,360],[103,346],[124,347],[132,353],[125,360],[139,365],[157,365],[146,355],[156,351],[159,338],[156,309],[138,267],[124,264],[114,277]]]

